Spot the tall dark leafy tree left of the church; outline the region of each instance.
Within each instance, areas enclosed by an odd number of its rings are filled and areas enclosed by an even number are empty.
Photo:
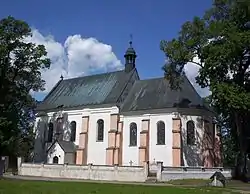
[[[41,70],[49,68],[43,45],[27,42],[27,23],[7,17],[0,20],[0,156],[23,155],[32,147],[35,100],[31,91],[44,89]]]

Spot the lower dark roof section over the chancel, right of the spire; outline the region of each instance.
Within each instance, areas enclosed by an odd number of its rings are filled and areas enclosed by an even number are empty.
[[[164,78],[139,80],[122,105],[122,112],[163,108],[205,108],[202,98],[184,76],[181,90],[171,90]]]

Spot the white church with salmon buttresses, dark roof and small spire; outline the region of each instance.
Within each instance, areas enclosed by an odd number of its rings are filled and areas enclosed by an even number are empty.
[[[215,114],[186,76],[141,80],[132,42],[124,70],[62,79],[36,109],[34,162],[221,165]]]

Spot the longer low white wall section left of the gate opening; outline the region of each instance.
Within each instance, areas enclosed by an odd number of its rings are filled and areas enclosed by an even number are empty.
[[[147,167],[102,165],[53,165],[22,163],[18,159],[18,175],[106,181],[144,182]]]

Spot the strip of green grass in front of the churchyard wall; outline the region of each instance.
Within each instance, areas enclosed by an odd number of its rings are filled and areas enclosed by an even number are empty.
[[[0,194],[188,194],[232,193],[223,189],[178,188],[173,186],[147,186],[87,182],[46,182],[0,180]]]

